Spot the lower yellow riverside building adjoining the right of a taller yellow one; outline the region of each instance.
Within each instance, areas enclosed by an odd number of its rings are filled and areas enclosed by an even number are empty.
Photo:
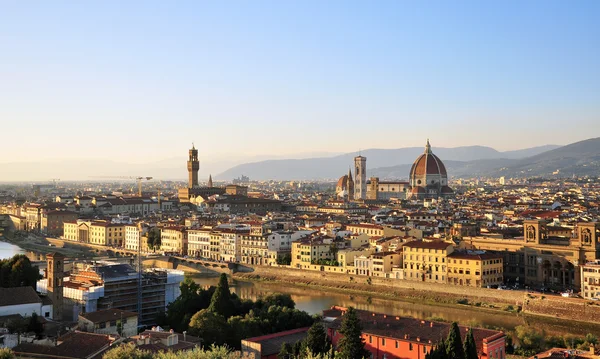
[[[501,285],[504,281],[503,255],[489,252],[453,252],[448,258],[448,284],[469,287]]]

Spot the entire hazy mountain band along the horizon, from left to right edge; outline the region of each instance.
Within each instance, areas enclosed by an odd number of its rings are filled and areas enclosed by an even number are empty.
[[[573,174],[600,175],[600,138],[566,146],[546,145],[506,152],[485,146],[432,149],[444,161],[448,174],[454,178],[534,177],[550,176],[553,173],[560,177]],[[407,179],[410,166],[421,153],[422,147],[361,151],[367,157],[367,176],[378,176],[381,179]],[[253,162],[242,164],[241,158],[201,159],[200,178],[205,180],[209,173],[213,173],[215,180],[223,181],[231,181],[241,175],[253,180],[337,179],[348,172],[357,153],[324,155],[327,154],[313,153],[313,156],[321,157],[305,159],[263,160],[264,157],[255,157]],[[0,164],[0,182],[49,182],[51,178],[92,180],[94,176],[107,175],[184,180],[187,174],[185,160],[186,158],[178,157],[138,164],[100,159],[3,163]],[[214,175],[220,171],[223,172]]]

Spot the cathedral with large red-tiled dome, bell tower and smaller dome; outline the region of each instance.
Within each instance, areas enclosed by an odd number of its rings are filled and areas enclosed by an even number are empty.
[[[357,156],[354,162],[355,178],[358,178],[359,175],[366,178],[366,157]],[[448,185],[446,167],[431,151],[429,140],[427,140],[423,154],[417,157],[413,163],[408,182],[380,181],[379,177],[371,177],[368,181],[364,181],[364,179],[362,181],[365,185],[359,189],[349,172],[338,180],[336,194],[349,201],[364,199],[384,201],[392,198],[423,200],[449,198],[454,195],[454,191]],[[347,195],[347,193],[352,193],[351,190],[348,190],[349,188],[354,189],[354,196]]]

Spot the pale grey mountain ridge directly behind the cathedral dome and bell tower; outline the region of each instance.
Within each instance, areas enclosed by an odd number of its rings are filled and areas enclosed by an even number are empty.
[[[558,148],[561,147],[546,145],[506,152],[486,146],[433,147],[432,149],[444,161],[451,176],[471,177],[486,175],[519,160]],[[381,179],[406,179],[410,166],[423,150],[423,147],[369,149],[361,151],[361,155],[367,157],[367,176],[378,176]],[[234,166],[215,178],[231,180],[246,175],[256,180],[335,179],[348,172],[356,155],[357,153],[346,153],[333,157],[245,163]]]

